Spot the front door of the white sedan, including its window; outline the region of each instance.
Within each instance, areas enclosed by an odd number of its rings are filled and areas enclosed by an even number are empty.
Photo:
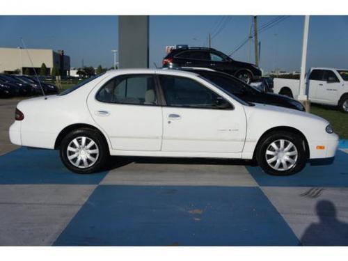
[[[158,77],[166,102],[162,111],[163,151],[242,152],[246,135],[242,106],[233,107],[197,79]]]

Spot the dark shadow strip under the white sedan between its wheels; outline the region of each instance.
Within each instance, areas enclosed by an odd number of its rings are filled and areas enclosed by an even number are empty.
[[[247,165],[257,166],[255,161],[242,159],[209,159],[209,158],[171,158],[171,157],[123,157],[111,156],[104,168],[111,171],[131,163],[139,164],[185,164],[185,165]]]

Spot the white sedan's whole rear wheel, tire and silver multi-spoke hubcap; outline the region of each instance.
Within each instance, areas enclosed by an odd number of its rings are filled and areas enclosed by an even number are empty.
[[[60,155],[63,164],[79,174],[99,171],[109,157],[101,134],[88,128],[74,130],[65,136]]]

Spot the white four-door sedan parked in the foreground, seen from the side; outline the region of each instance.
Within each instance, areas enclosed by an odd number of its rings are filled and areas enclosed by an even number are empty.
[[[59,95],[19,102],[10,140],[60,150],[76,173],[109,155],[255,159],[272,175],[335,155],[338,136],[310,113],[251,104],[192,72],[115,70]]]

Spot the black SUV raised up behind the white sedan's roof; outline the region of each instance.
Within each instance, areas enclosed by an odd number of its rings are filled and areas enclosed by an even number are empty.
[[[261,70],[251,63],[235,61],[212,48],[187,47],[173,49],[163,60],[164,68],[203,67],[226,72],[246,84],[260,79]]]

